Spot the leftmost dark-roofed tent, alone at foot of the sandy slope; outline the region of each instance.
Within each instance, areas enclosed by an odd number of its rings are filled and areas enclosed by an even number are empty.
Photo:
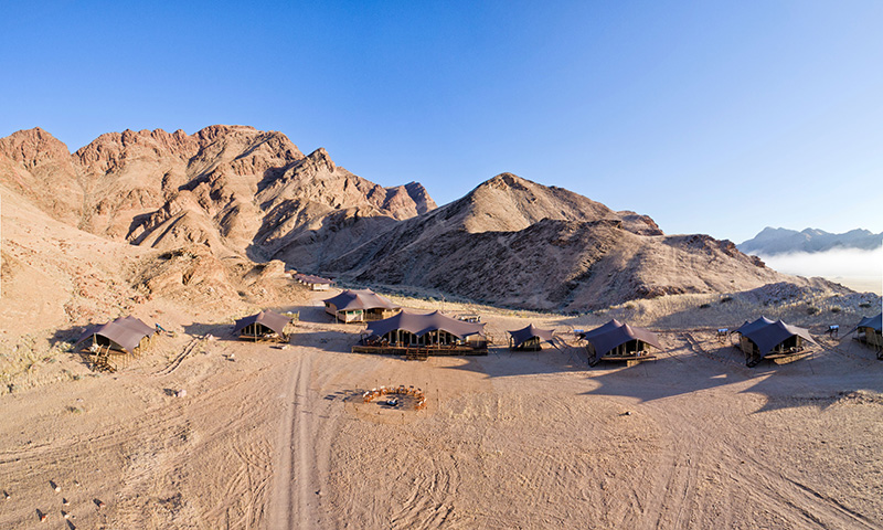
[[[79,336],[74,348],[92,339],[83,353],[89,356],[93,368],[115,371],[128,356],[140,354],[149,344],[156,330],[141,320],[128,316],[100,326],[93,326]],[[111,360],[115,356],[116,360]]]

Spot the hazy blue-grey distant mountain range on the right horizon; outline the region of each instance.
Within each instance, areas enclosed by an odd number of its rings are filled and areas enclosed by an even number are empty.
[[[883,245],[883,232],[874,234],[868,230],[850,230],[832,234],[823,230],[806,229],[800,232],[767,226],[753,239],[738,245],[746,254],[773,256],[792,252],[825,252],[832,248],[861,248],[872,251]]]

